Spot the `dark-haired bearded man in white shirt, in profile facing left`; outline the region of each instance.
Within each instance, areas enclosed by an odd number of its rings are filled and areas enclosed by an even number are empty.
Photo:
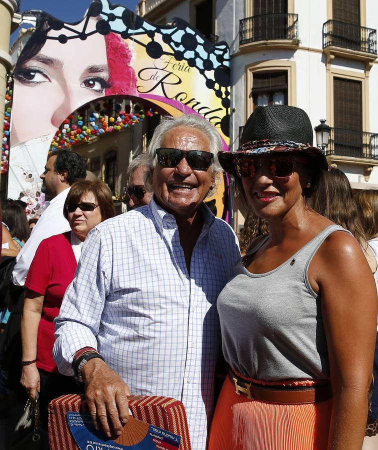
[[[63,216],[63,205],[72,183],[85,178],[85,161],[71,150],[56,150],[51,153],[44,166],[41,191],[51,200],[45,202],[44,210],[33,227],[29,239],[16,257],[12,272],[13,283],[23,286],[27,271],[40,242],[46,237],[69,231],[68,221]]]

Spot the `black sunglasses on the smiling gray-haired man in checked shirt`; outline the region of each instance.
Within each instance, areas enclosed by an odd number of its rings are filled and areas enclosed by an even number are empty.
[[[175,167],[182,158],[193,170],[207,170],[214,157],[209,151],[179,150],[178,148],[157,148],[157,162],[161,167]]]

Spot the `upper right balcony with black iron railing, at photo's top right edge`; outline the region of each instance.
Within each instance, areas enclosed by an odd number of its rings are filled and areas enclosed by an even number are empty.
[[[371,68],[376,58],[376,29],[339,20],[327,20],[323,23],[323,52],[329,55],[347,57],[365,61]]]

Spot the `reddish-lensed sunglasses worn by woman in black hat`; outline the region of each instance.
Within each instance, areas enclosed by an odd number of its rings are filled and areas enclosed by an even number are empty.
[[[277,156],[277,157],[255,157],[240,156],[233,160],[235,170],[238,176],[253,177],[257,175],[261,165],[265,165],[270,174],[275,178],[288,178],[292,175],[295,168],[295,162],[304,162],[307,160],[300,157]]]

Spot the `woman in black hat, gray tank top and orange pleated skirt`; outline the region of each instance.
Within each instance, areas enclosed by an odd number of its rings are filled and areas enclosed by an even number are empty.
[[[209,449],[360,449],[377,297],[354,237],[306,203],[327,169],[307,114],[258,106],[235,152],[236,193],[267,220],[219,294],[229,374]]]

